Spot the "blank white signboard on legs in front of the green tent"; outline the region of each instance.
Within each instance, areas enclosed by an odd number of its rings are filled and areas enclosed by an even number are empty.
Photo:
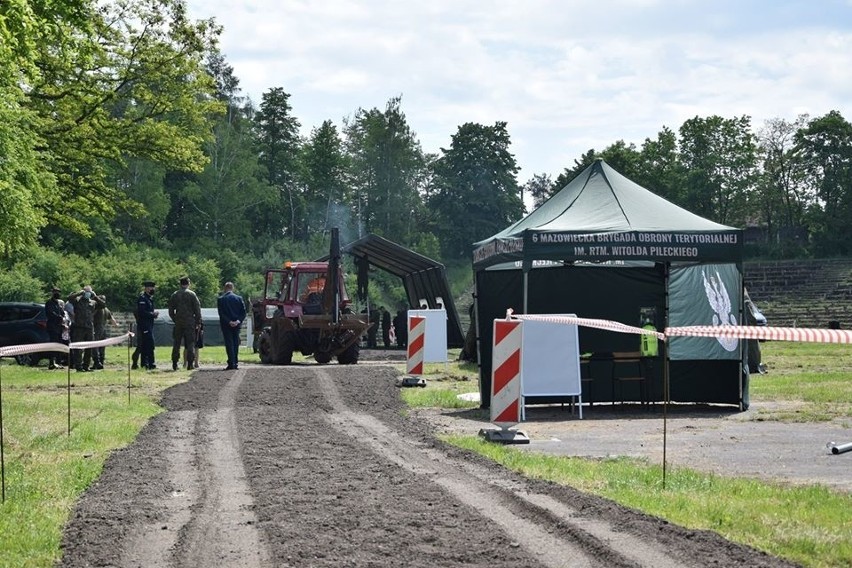
[[[576,396],[582,418],[577,326],[524,320],[522,349],[521,396]]]

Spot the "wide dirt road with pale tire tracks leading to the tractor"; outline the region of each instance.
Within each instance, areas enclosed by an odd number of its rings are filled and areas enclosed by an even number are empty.
[[[61,566],[790,566],[447,447],[395,382],[367,365],[197,372],[108,460]]]

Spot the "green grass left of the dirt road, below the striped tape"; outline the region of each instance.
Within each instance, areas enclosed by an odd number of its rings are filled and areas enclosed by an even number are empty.
[[[221,357],[224,364],[224,348],[201,351],[202,363]],[[71,371],[70,433],[67,371],[0,360],[6,466],[0,567],[49,567],[59,559],[62,528],[110,452],[130,444],[162,411],[157,401],[165,388],[189,377],[170,370],[171,349],[156,355],[159,369],[131,371],[129,388],[124,346],[107,348],[103,371]]]

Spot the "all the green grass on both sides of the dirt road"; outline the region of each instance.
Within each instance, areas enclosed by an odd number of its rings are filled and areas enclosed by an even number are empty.
[[[49,567],[58,559],[62,526],[109,453],[133,441],[161,412],[160,393],[185,381],[157,349],[160,370],[128,377],[126,347],[107,350],[107,369],[70,373],[0,361],[6,500],[0,505],[0,567]],[[765,343],[769,374],[753,377],[752,401],[789,400],[793,415],[767,420],[850,418],[852,347]],[[454,361],[456,352],[451,353]],[[241,353],[257,362],[257,355]],[[225,365],[222,347],[201,350],[205,365]],[[402,369],[404,365],[397,365]],[[411,406],[476,407],[457,395],[478,388],[473,365],[427,365],[425,389],[405,389]],[[852,424],[852,420],[850,420]],[[552,479],[691,527],[708,528],[805,566],[852,565],[852,497],[821,487],[789,488],[675,469],[666,488],[655,466],[626,460],[584,460],[521,454],[476,437],[453,438],[524,474]],[[844,456],[845,457],[845,456]]]

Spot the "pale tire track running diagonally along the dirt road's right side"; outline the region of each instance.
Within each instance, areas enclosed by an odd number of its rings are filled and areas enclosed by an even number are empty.
[[[415,446],[373,416],[349,410],[329,372],[324,369],[316,372],[323,395],[335,411],[327,417],[335,429],[357,436],[398,466],[427,476],[432,483],[494,521],[548,568],[598,566],[596,559],[602,558],[606,558],[607,566],[684,566],[682,559],[672,558],[662,547],[615,531],[606,522],[582,518],[572,507],[547,495],[526,492],[513,482],[501,483],[493,472],[458,463],[437,450]],[[558,519],[567,525],[565,534],[554,534],[550,523],[537,523],[513,511],[517,504],[513,507],[506,502],[507,493],[521,501],[523,508],[538,508],[548,520]]]

